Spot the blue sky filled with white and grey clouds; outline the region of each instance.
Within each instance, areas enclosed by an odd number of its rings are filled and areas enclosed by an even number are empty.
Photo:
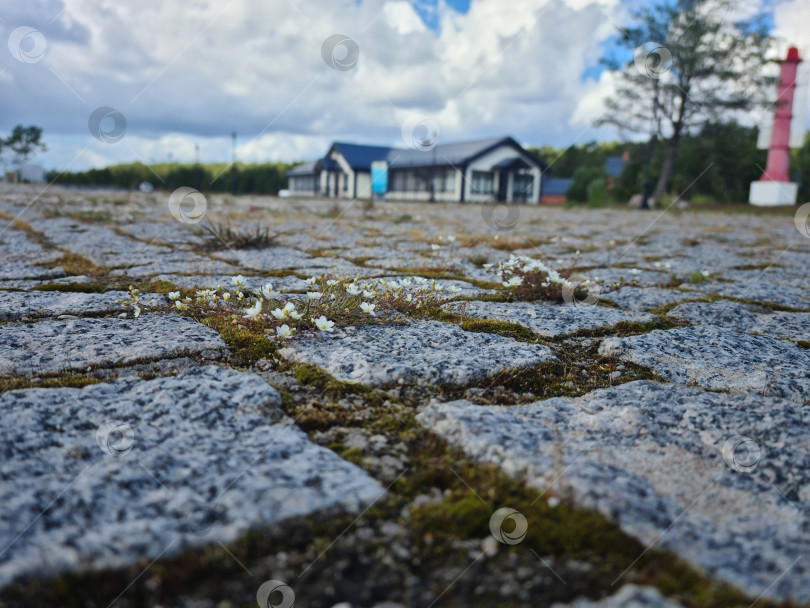
[[[0,133],[42,126],[59,170],[229,160],[232,132],[244,161],[314,159],[424,117],[441,142],[615,139],[599,59],[644,1],[3,0]],[[810,48],[810,2],[762,8]]]

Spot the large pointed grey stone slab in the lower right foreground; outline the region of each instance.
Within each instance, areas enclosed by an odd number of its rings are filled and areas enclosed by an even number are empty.
[[[645,547],[673,551],[752,597],[808,602],[804,409],[636,381],[523,406],[431,404],[417,420],[476,460],[595,509]]]

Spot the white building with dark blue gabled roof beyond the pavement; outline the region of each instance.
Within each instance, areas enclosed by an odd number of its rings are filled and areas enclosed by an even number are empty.
[[[390,200],[538,204],[547,165],[511,137],[409,150],[336,142],[287,172],[293,196],[371,198],[371,163],[388,166]]]

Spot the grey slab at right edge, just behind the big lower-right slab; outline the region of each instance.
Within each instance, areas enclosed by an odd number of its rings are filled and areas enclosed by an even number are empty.
[[[696,326],[607,338],[599,353],[679,384],[810,403],[810,351],[785,340]]]

